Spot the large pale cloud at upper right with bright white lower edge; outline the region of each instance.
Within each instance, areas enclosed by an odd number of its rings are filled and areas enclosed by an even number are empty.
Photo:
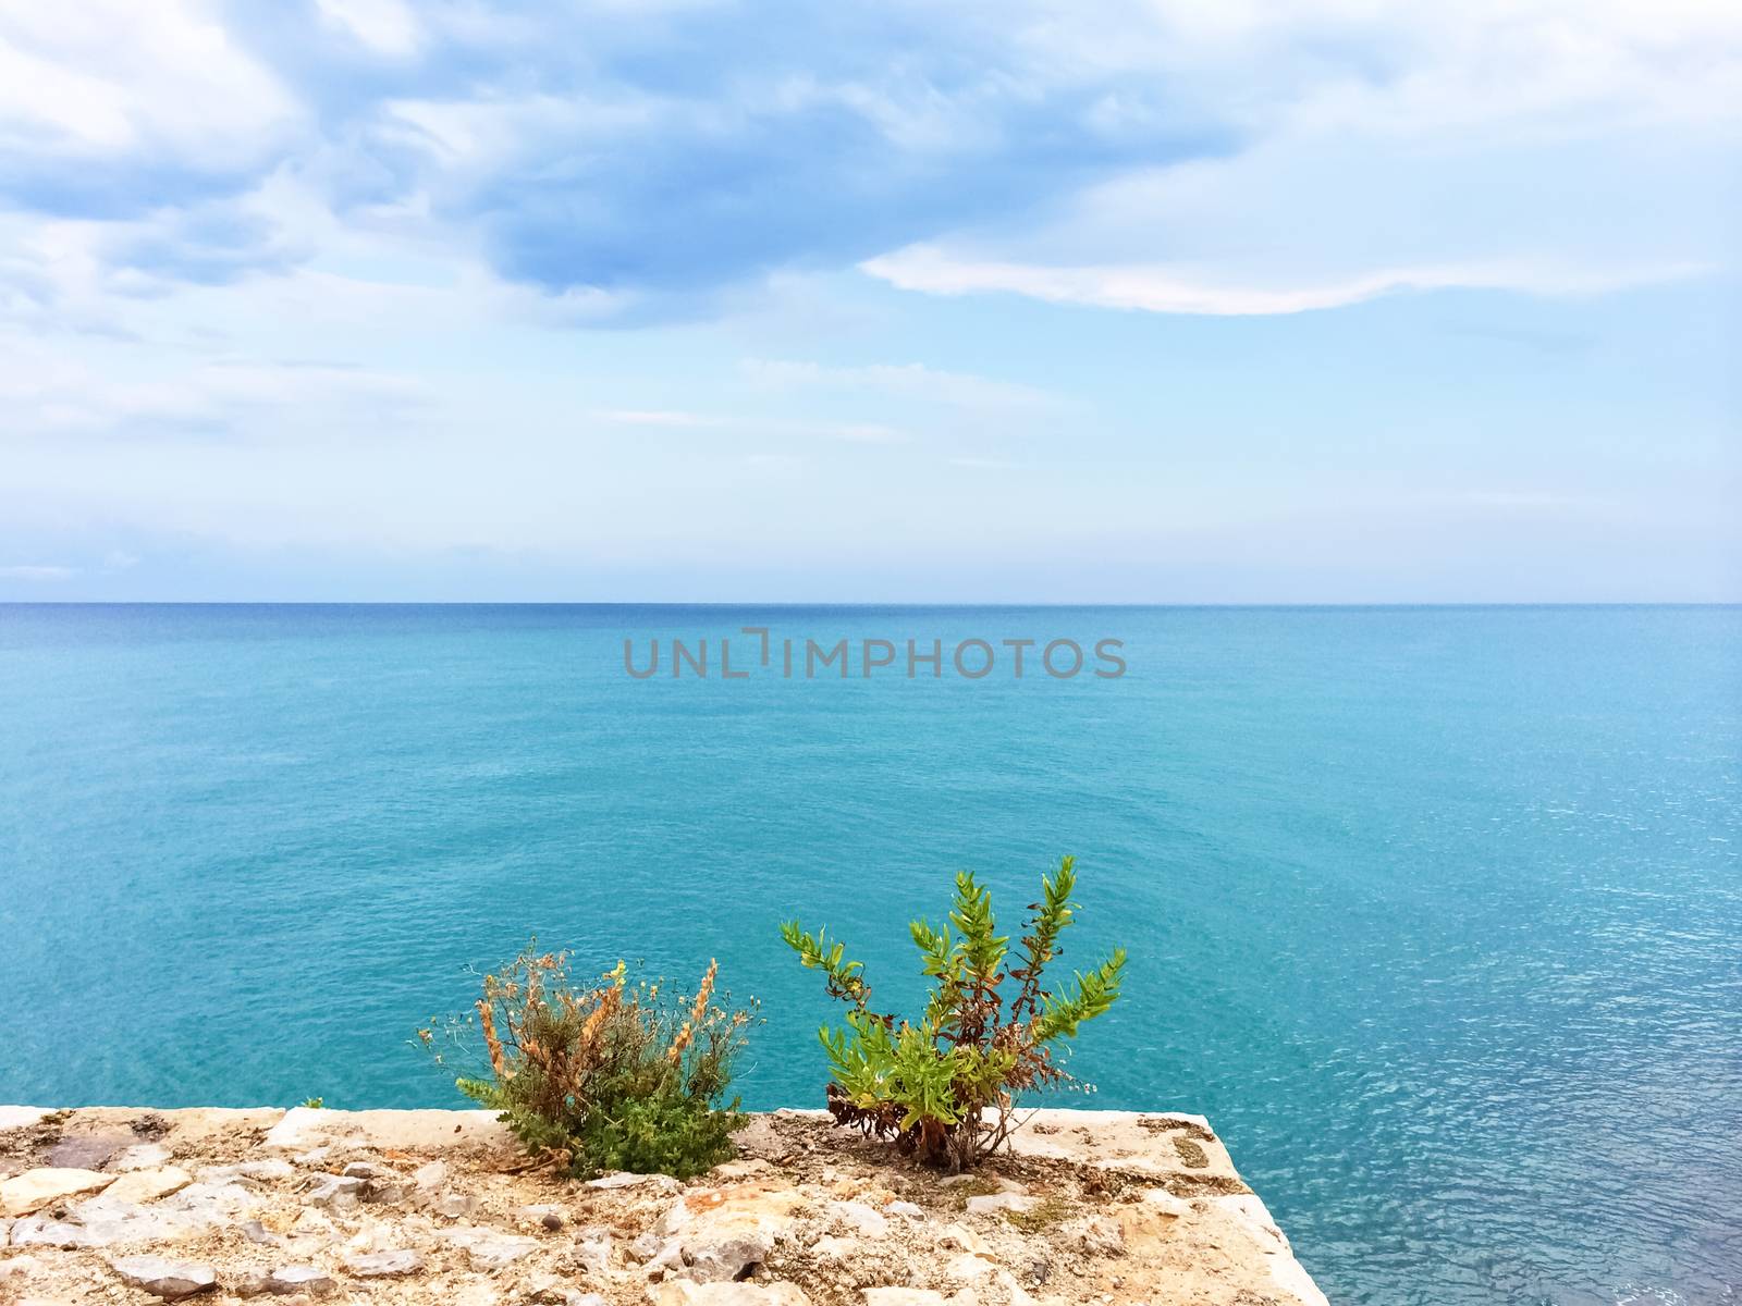
[[[1742,9],[1233,0],[1028,10],[1059,68],[1148,77],[1235,148],[1047,221],[864,261],[934,294],[1294,313],[1434,289],[1596,294],[1732,266]],[[1132,111],[1110,92],[1103,111]]]

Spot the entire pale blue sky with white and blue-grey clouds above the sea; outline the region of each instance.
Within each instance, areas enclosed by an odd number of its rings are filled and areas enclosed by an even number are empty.
[[[1739,200],[1728,0],[0,0],[0,601],[1739,601]]]

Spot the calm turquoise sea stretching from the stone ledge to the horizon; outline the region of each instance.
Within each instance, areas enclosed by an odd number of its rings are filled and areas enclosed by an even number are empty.
[[[624,674],[744,625],[1129,672]],[[448,1104],[411,1029],[537,932],[719,956],[817,1104],[782,916],[909,994],[1071,852],[1090,1104],[1207,1114],[1333,1301],[1737,1301],[1739,752],[1735,608],[0,606],[0,1101]]]

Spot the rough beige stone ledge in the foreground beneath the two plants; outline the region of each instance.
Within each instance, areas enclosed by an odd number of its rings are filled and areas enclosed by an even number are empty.
[[[1326,1301],[1198,1116],[1035,1111],[955,1177],[810,1111],[739,1144],[573,1182],[484,1111],[0,1107],[0,1301]]]

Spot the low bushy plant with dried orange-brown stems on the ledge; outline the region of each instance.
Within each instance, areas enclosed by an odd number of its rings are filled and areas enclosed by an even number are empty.
[[[721,1102],[753,1019],[716,1001],[716,977],[711,963],[693,996],[662,998],[662,982],[631,982],[617,963],[575,987],[566,953],[528,946],[484,975],[476,1024],[490,1073],[456,1085],[500,1111],[531,1156],[575,1175],[702,1174],[733,1155],[739,1099]],[[470,1027],[449,1022],[449,1040],[465,1045]],[[434,1047],[432,1029],[418,1038]]]

